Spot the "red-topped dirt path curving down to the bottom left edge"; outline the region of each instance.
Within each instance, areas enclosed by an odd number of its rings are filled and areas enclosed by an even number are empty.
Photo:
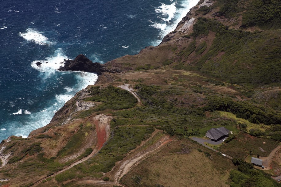
[[[108,135],[109,135],[109,122],[111,120],[111,116],[106,116],[104,114],[100,114],[100,115],[97,115],[93,118],[93,121],[95,123],[95,126],[96,126],[96,133],[97,133],[97,145],[95,147],[95,149],[92,151],[92,153],[90,155],[88,155],[87,157],[71,164],[70,166],[64,168],[63,170],[60,170],[58,171],[57,173],[54,173],[53,175],[51,176],[48,176],[48,177],[45,177],[43,179],[41,179],[40,181],[37,181],[36,183],[34,183],[33,186],[40,186],[39,184],[45,180],[46,178],[49,178],[49,177],[54,177],[56,176],[57,174],[60,174],[66,170],[69,170],[70,168],[72,168],[73,166],[76,166],[77,164],[80,164],[86,160],[88,160],[89,158],[91,158],[92,156],[94,156],[97,152],[100,151],[100,149],[103,147],[103,144],[106,142],[107,138],[108,138]]]

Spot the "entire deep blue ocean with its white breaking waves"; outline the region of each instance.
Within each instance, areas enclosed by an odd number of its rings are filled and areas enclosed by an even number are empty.
[[[56,71],[63,59],[82,53],[105,63],[158,45],[197,2],[2,1],[0,141],[45,126],[77,91],[95,83],[93,73]]]

